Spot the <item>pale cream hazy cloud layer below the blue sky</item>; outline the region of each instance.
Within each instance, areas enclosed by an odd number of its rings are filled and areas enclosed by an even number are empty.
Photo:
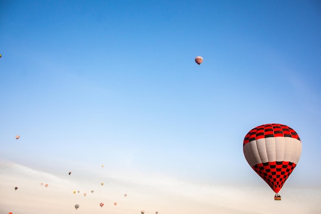
[[[266,187],[219,186],[189,183],[173,178],[105,176],[74,178],[71,174],[57,177],[7,161],[0,165],[0,211],[6,213],[320,213],[321,189],[285,188],[282,201],[273,200]],[[97,175],[96,175],[97,176]],[[99,182],[102,180],[104,186]],[[46,188],[41,183],[48,183]],[[18,189],[14,190],[17,186]],[[73,194],[73,191],[80,193]],[[94,190],[91,193],[91,190]],[[84,193],[87,193],[84,196]],[[125,197],[124,193],[128,196]],[[105,205],[101,208],[99,203]],[[115,206],[113,203],[117,202]]]

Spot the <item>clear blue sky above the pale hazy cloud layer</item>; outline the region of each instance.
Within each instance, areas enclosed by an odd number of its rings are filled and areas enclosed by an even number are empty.
[[[303,150],[280,193],[319,191],[320,9],[317,1],[1,1],[3,165],[59,179],[73,171],[84,185],[128,177],[119,186],[131,189],[130,178],[150,186],[167,178],[272,197],[242,145],[250,129],[282,123]]]

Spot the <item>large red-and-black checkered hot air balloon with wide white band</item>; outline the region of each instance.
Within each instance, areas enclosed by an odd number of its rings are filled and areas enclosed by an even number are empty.
[[[243,141],[243,152],[252,169],[276,193],[297,165],[302,150],[298,134],[289,126],[265,124],[250,130]]]

